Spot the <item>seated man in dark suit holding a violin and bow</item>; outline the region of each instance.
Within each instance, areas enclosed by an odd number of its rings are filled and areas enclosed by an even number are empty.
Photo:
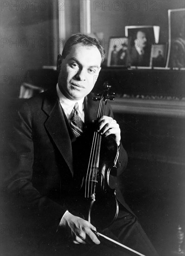
[[[19,152],[10,163],[6,179],[6,185],[14,195],[11,198],[14,213],[18,208],[18,218],[22,223],[33,223],[39,227],[33,240],[37,243],[41,239],[39,236],[44,235],[42,243],[49,245],[48,250],[55,248],[52,254],[122,255],[120,249],[114,248],[113,252],[110,249],[112,245],[105,241],[100,243],[93,232],[96,227],[70,212],[65,205],[70,188],[82,174],[83,164],[87,161],[89,136],[95,127],[98,110],[98,102],[92,101],[89,93],[103,59],[104,50],[96,39],[83,34],[71,36],[62,56],[57,59],[57,88],[23,104],[10,138],[10,150]],[[74,122],[76,118],[79,126]],[[120,175],[126,167],[127,155],[121,145],[119,125],[113,119],[108,104],[96,129],[102,137],[114,138],[119,148],[115,164],[117,175]],[[116,197],[120,206],[117,220],[102,232],[109,233],[121,243],[133,245],[133,249],[147,255],[157,255],[119,189]],[[55,240],[59,247],[53,245]],[[47,253],[40,252],[43,255]],[[125,255],[129,254],[125,252]]]

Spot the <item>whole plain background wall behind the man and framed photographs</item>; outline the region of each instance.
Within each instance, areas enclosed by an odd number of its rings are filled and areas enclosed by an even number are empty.
[[[0,2],[1,95],[5,101],[18,97],[28,70],[56,64],[57,54],[63,48],[63,41],[58,40],[59,11],[65,12],[63,39],[80,32],[80,0],[65,0],[60,10],[57,0],[33,2]],[[91,30],[103,32],[106,52],[109,37],[124,36],[126,25],[159,25],[159,42],[165,42],[168,40],[167,10],[182,7],[185,2],[181,0],[91,0]]]

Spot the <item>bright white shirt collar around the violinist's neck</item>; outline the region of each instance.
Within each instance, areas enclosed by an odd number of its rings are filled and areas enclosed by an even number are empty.
[[[62,92],[59,89],[58,83],[57,83],[57,96],[58,99],[60,101],[60,104],[62,106],[62,108],[64,109],[64,112],[67,113],[68,115],[71,114],[71,111],[73,110],[75,103],[78,103],[78,111],[83,114],[83,101],[84,98],[78,101],[71,101],[68,98],[66,98],[64,96],[64,94],[62,94]]]

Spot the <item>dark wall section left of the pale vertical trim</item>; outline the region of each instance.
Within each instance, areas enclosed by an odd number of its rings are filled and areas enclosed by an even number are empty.
[[[51,2],[30,2],[1,1],[1,95],[7,99],[18,96],[28,69],[54,63]]]

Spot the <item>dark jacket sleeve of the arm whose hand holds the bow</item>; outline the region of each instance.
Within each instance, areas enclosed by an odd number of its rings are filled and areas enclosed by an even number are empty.
[[[22,218],[26,216],[30,223],[33,219],[42,228],[56,231],[66,209],[33,187],[32,114],[29,105],[24,103],[9,133],[8,144],[12,158],[8,162],[5,186],[11,195],[9,199],[12,209],[17,209]]]

